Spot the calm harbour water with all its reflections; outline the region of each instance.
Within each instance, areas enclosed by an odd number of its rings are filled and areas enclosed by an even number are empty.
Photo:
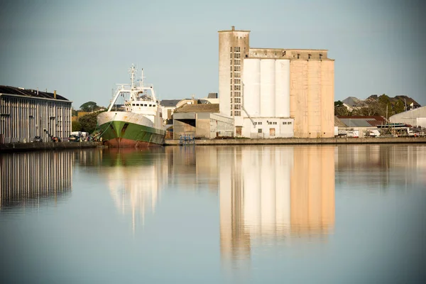
[[[1,283],[421,283],[426,145],[0,155]]]

